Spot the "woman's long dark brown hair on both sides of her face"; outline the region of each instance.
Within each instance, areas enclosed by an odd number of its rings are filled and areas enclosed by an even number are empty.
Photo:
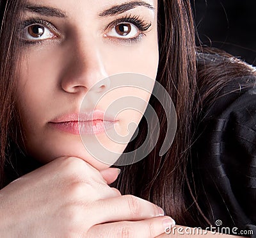
[[[40,166],[29,160],[23,163],[22,154],[19,154],[20,157],[13,155],[18,148],[17,133],[13,128],[19,128],[19,116],[15,110],[15,82],[18,80],[20,47],[13,36],[17,19],[20,19],[21,6],[21,0],[0,0],[0,188],[25,171]],[[163,107],[151,97],[149,104],[154,107],[161,127],[157,145],[146,159],[122,167],[122,173],[111,186],[120,189],[122,194],[134,194],[156,203],[179,224],[209,223],[196,203],[191,186],[193,171],[189,168],[193,164],[191,146],[195,139],[196,120],[203,107],[211,105],[228,82],[255,73],[252,67],[228,54],[196,48],[189,0],[158,1],[158,35],[159,68],[156,80],[172,97],[177,111],[177,132],[172,147],[159,156],[166,116],[163,116]],[[212,57],[217,60],[208,59]],[[216,70],[216,66],[219,70]],[[127,145],[125,152],[140,147],[148,126],[142,119],[140,136]],[[29,168],[25,168],[29,163]]]

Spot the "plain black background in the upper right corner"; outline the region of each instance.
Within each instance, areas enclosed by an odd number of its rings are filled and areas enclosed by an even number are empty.
[[[256,0],[191,0],[191,5],[202,45],[256,65]]]

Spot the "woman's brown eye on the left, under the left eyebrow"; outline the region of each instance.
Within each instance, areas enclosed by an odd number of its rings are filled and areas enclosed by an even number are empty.
[[[21,34],[23,40],[46,40],[54,37],[56,37],[56,35],[41,24],[27,26]]]

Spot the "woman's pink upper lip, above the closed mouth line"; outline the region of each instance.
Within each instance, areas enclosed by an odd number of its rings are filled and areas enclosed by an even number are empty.
[[[63,123],[63,122],[88,122],[94,120],[104,120],[115,122],[115,116],[108,115],[104,111],[94,110],[84,113],[68,113],[61,116],[57,116],[52,123]]]

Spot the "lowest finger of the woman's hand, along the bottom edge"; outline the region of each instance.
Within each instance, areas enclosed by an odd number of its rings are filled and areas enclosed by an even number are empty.
[[[166,229],[172,229],[175,221],[168,216],[149,218],[141,221],[118,221],[92,226],[86,237],[157,237]]]

